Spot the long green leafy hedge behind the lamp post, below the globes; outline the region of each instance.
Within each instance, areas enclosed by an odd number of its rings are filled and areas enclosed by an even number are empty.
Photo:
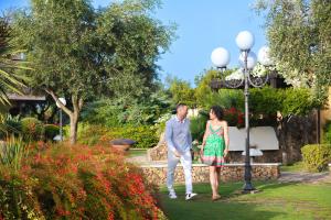
[[[212,75],[205,77],[209,78]],[[209,84],[203,80],[201,84],[203,85],[196,88],[195,94],[199,101],[197,106],[209,109],[214,105],[220,105],[224,109],[235,108],[242,112],[244,111],[244,92],[242,89],[220,89],[217,92],[212,92]],[[204,92],[200,90],[202,87]],[[263,88],[252,88],[249,89],[249,120],[254,125],[276,124],[277,111],[284,118],[289,116],[307,116],[314,108],[323,106],[324,101],[318,100],[311,89],[308,88],[275,89],[266,86]]]

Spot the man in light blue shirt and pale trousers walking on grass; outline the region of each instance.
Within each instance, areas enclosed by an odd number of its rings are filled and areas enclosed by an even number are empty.
[[[167,187],[169,197],[175,199],[177,195],[173,189],[174,169],[181,162],[185,176],[186,200],[190,200],[196,194],[192,193],[192,136],[190,132],[190,121],[186,119],[188,106],[179,103],[177,106],[177,114],[166,125],[166,142],[168,145],[168,175]]]

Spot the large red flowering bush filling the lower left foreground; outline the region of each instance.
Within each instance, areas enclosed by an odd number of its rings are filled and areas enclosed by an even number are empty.
[[[35,147],[18,173],[0,167],[0,219],[163,218],[153,187],[111,148]]]

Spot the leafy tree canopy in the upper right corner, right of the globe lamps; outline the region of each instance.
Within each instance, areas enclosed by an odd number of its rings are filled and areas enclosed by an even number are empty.
[[[329,0],[257,0],[266,16],[270,53],[284,77],[313,88],[323,100],[331,86],[331,3]]]

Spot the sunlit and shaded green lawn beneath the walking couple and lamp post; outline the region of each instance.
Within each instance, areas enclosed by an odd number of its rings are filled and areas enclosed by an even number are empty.
[[[243,220],[243,219],[331,219],[331,185],[254,183],[261,191],[239,193],[243,183],[222,184],[223,199],[211,201],[209,184],[194,185],[199,196],[184,200],[184,186],[177,186],[179,198],[170,200],[161,189],[161,206],[170,220]]]

